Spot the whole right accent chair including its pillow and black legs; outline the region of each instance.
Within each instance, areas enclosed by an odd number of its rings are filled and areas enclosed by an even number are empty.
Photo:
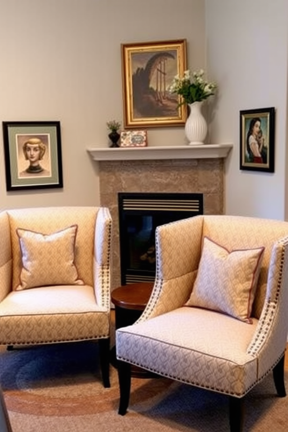
[[[116,331],[119,414],[137,365],[228,395],[239,432],[244,396],[267,374],[285,396],[287,335],[288,222],[195,216],[159,226],[152,295],[139,320]]]

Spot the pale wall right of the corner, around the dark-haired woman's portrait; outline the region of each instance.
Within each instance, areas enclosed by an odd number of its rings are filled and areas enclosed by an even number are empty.
[[[287,0],[206,0],[207,64],[219,84],[214,142],[232,142],[226,213],[288,220]],[[275,173],[240,171],[239,111],[275,107]]]

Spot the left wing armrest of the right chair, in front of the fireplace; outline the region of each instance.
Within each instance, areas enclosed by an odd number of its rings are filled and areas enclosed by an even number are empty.
[[[155,284],[141,321],[179,308],[188,300],[201,255],[202,229],[203,216],[156,229]]]

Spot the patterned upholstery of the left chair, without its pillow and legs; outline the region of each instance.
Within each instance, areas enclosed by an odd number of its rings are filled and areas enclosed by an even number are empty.
[[[16,229],[51,235],[77,225],[75,266],[84,285],[16,291],[22,269]],[[111,217],[102,207],[48,207],[0,213],[0,344],[110,336]]]

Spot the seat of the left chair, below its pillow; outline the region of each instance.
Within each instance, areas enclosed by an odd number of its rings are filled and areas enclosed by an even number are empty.
[[[19,308],[21,304],[21,308]],[[10,292],[0,302],[0,344],[52,343],[109,336],[109,312],[92,286],[45,286]]]

